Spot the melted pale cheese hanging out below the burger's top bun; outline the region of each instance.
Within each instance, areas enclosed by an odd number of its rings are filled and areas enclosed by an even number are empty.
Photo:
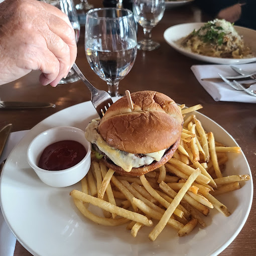
[[[99,119],[92,120],[85,130],[85,138],[92,144],[96,144],[98,149],[107,155],[107,157],[124,171],[131,172],[132,168],[138,168],[143,165],[150,165],[153,161],[160,161],[166,150],[154,153],[144,154],[144,157],[137,157],[135,154],[127,153],[113,147],[102,139],[97,132]]]

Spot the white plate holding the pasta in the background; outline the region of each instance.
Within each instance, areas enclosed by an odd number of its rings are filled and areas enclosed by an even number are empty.
[[[217,64],[224,64],[224,65],[233,65],[233,64],[245,64],[256,61],[256,57],[253,58],[244,58],[244,59],[228,59],[228,58],[217,58],[217,57],[208,57],[203,56],[200,54],[196,54],[193,52],[189,52],[181,47],[177,40],[186,37],[189,35],[194,29],[199,29],[203,26],[204,23],[185,23],[176,25],[173,27],[168,28],[164,33],[165,41],[172,46],[176,51],[188,56],[190,58],[217,63]],[[246,29],[239,26],[234,26],[235,30],[238,34],[243,36],[244,42],[247,46],[249,46],[254,54],[256,54],[256,31],[251,29]]]

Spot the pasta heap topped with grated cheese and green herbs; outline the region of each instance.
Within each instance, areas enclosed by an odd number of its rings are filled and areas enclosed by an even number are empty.
[[[207,22],[183,39],[181,45],[193,53],[211,57],[241,59],[253,56],[242,36],[225,20]]]

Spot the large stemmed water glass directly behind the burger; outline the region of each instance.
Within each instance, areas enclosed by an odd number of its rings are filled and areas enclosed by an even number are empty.
[[[133,13],[125,9],[99,8],[87,12],[85,52],[91,69],[118,96],[118,84],[129,73],[137,55]]]

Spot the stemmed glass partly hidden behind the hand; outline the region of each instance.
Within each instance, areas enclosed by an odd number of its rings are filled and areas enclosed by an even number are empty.
[[[75,31],[75,37],[76,37],[76,43],[78,42],[79,35],[80,35],[80,24],[78,22],[77,13],[75,10],[75,6],[73,3],[73,0],[40,0],[42,2],[48,3],[52,6],[57,7],[60,9],[63,13],[65,13],[69,21]],[[73,68],[69,71],[66,78],[62,78],[59,82],[59,84],[66,84],[66,83],[73,83],[78,81],[80,78],[76,74]]]

